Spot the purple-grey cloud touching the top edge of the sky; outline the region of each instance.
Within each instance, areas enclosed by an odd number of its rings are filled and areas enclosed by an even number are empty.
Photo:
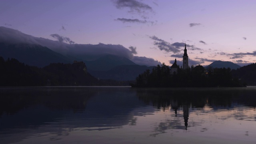
[[[145,11],[153,11],[152,7],[148,4],[144,4],[137,0],[114,0],[113,2],[118,9],[129,8],[130,10],[128,12],[137,12],[141,14],[145,13]]]

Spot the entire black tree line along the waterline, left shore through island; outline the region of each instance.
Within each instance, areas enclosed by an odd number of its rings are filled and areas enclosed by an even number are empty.
[[[139,74],[134,81],[98,79],[84,62],[51,63],[43,68],[28,66],[14,58],[0,57],[0,86],[132,86],[132,87],[242,87],[256,86],[256,64],[236,70],[191,66],[170,75],[164,63]]]

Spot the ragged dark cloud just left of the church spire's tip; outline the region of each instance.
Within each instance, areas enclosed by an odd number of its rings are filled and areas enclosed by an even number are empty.
[[[180,46],[182,46],[182,44],[185,46],[184,43],[180,44],[179,42],[170,44],[169,42],[166,42],[156,36],[150,36],[150,38],[154,40],[155,46],[157,46],[160,50],[164,50],[165,52],[177,53],[180,52]]]

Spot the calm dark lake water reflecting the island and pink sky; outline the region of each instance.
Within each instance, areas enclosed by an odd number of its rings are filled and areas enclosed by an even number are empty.
[[[255,144],[256,87],[0,88],[0,144]]]

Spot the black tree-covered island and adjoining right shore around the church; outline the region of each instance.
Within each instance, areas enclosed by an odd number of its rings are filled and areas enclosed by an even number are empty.
[[[247,72],[246,72],[247,71]],[[151,71],[146,70],[136,78],[133,87],[243,87],[255,85],[256,66],[250,64],[237,70],[230,68],[205,69],[191,66],[186,70],[178,69],[170,75],[170,67],[164,63]]]

